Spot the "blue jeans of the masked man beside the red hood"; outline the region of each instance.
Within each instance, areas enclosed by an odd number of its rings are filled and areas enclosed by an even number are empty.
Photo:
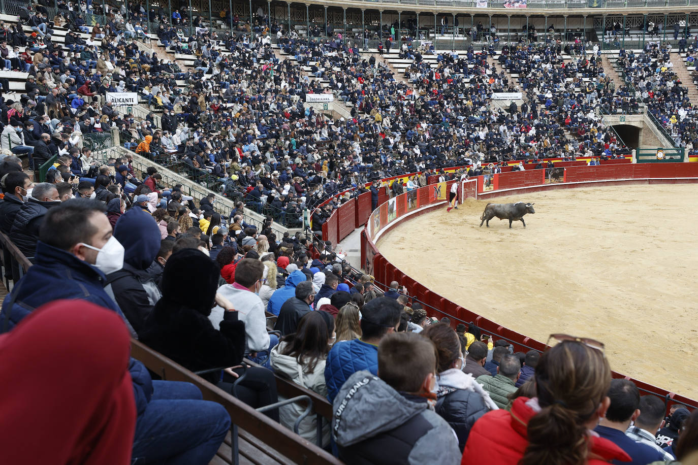
[[[153,397],[138,417],[133,464],[208,464],[230,429],[221,404],[201,400],[191,383],[153,381]]]

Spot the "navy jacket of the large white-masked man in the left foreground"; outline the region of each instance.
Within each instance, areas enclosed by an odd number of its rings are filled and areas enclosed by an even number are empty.
[[[17,282],[12,293],[6,296],[0,312],[0,333],[14,328],[36,308],[58,299],[82,299],[114,310],[121,318],[119,307],[102,288],[104,274],[96,267],[77,259],[75,255],[41,241],[36,243],[36,263]],[[12,310],[8,308],[10,302]],[[6,316],[9,312],[7,328]],[[140,415],[153,394],[153,383],[148,370],[138,360],[131,358],[128,371],[133,379],[135,408]]]

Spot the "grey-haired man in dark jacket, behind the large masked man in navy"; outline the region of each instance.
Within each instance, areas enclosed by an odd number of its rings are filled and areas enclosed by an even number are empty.
[[[36,241],[44,216],[49,208],[61,203],[55,185],[38,183],[27,192],[27,201],[20,207],[10,228],[10,240],[17,245],[25,257],[31,259],[36,250]]]

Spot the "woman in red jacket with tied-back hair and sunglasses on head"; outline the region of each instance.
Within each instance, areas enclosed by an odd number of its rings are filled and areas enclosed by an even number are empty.
[[[609,407],[611,369],[603,344],[556,335],[535,370],[536,397],[486,413],[470,429],[461,465],[600,465],[630,462],[592,430]]]

